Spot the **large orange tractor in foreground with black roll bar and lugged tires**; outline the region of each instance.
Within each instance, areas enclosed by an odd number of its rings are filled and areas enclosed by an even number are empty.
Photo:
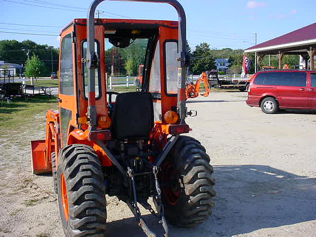
[[[35,174],[52,173],[67,237],[106,235],[106,195],[124,201],[148,237],[139,205],[168,225],[194,227],[214,205],[213,168],[204,147],[181,134],[186,108],[186,15],[178,21],[75,19],[60,33],[59,111],[46,114],[45,140],[32,141]],[[141,90],[108,91],[105,48],[146,40]],[[108,45],[106,45],[108,43]],[[115,99],[114,99],[115,97]],[[149,204],[152,198],[155,209]]]

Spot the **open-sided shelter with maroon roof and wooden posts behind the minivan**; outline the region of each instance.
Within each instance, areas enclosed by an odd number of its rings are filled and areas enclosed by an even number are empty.
[[[301,55],[305,60],[305,69],[315,70],[316,23],[247,48],[244,52],[255,52],[258,66],[265,55],[277,55],[279,69],[282,68],[283,55]]]

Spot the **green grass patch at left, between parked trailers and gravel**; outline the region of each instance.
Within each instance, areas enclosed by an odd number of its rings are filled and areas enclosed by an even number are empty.
[[[48,109],[56,109],[55,96],[37,95],[26,98],[13,98],[10,103],[0,102],[0,130],[19,130],[29,124],[34,115],[43,113]]]

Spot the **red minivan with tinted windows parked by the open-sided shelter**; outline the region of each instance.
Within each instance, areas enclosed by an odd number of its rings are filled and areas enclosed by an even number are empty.
[[[273,70],[257,72],[248,88],[249,106],[266,114],[278,109],[316,109],[316,72]]]

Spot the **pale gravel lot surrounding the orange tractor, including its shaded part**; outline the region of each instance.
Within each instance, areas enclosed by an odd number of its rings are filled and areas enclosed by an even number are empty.
[[[217,197],[204,224],[170,227],[170,237],[316,236],[316,112],[266,115],[245,99],[244,92],[215,92],[189,101],[198,111],[187,119],[191,136],[211,157]],[[0,134],[0,237],[63,236],[52,178],[31,174],[30,140],[44,138],[43,114],[36,118]],[[126,205],[107,199],[108,236],[144,236]]]

